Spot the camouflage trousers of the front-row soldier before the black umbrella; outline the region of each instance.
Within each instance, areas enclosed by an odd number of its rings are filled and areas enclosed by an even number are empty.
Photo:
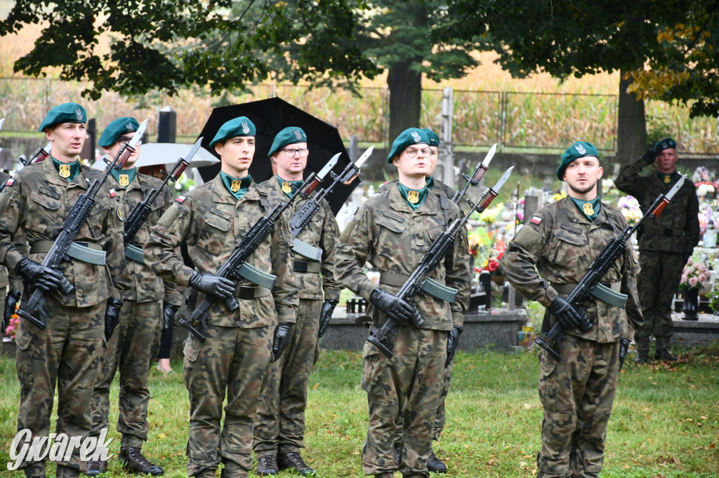
[[[224,478],[248,476],[252,423],[274,331],[275,327],[209,325],[205,342],[193,335],[185,341],[183,372],[190,395],[188,477],[211,473],[220,462]]]

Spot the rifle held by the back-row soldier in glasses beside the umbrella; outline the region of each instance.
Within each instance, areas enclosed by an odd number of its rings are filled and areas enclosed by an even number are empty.
[[[297,235],[300,233],[301,230],[303,230],[306,225],[308,225],[308,223],[317,213],[317,211],[319,211],[321,200],[323,200],[326,195],[329,195],[329,193],[332,192],[332,189],[334,189],[337,183],[342,182],[343,184],[350,184],[352,181],[354,181],[354,178],[356,178],[357,174],[359,174],[359,167],[361,167],[362,164],[367,161],[367,158],[370,157],[370,154],[372,154],[373,149],[375,149],[375,146],[370,146],[370,148],[367,149],[367,151],[365,151],[362,156],[359,156],[357,161],[354,161],[354,163],[350,161],[350,163],[347,164],[346,167],[344,167],[340,174],[336,174],[333,171],[331,174],[332,183],[328,187],[320,189],[318,192],[316,192],[314,197],[310,197],[307,202],[305,202],[302,207],[295,213],[292,219],[290,219],[290,233],[292,234],[293,241],[292,250],[294,250],[298,254],[301,254],[302,256],[305,256],[308,259],[312,259],[313,261],[321,260],[322,250],[313,247],[308,243],[304,243],[297,238]],[[324,177],[324,174],[322,174],[322,172],[326,174],[334,167],[337,162],[337,159],[339,159],[339,153],[332,156],[332,159],[329,161],[329,163],[327,163],[327,165],[322,169],[322,171],[320,172],[321,177]]]

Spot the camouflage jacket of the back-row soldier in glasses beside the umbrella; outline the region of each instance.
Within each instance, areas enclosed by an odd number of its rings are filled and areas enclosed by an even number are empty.
[[[277,177],[273,176],[261,185],[268,189],[273,189],[283,201],[288,200],[288,197],[282,192]],[[288,210],[284,212],[288,220],[295,215],[305,202],[307,202],[305,198],[298,197],[290,205]],[[334,281],[334,251],[339,237],[339,228],[337,228],[337,222],[334,219],[332,210],[329,208],[329,203],[322,200],[320,206],[320,209],[312,217],[308,225],[300,231],[297,238],[322,250],[322,274],[297,272],[295,273],[295,278],[300,299],[322,300],[324,291],[325,300],[334,299],[339,301],[339,290],[342,289],[342,286]],[[296,261],[309,261],[308,258],[293,250],[290,250],[290,255]]]

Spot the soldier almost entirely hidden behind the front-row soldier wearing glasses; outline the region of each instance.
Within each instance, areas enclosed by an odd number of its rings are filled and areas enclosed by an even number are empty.
[[[427,138],[429,139],[430,171],[429,176],[427,176],[426,179],[427,187],[430,191],[435,192],[437,195],[444,195],[449,199],[452,199],[452,197],[454,197],[457,191],[452,189],[452,187],[449,187],[447,184],[444,184],[444,182],[441,182],[439,179],[435,179],[433,177],[434,171],[437,167],[437,159],[439,158],[439,136],[437,136],[436,133],[429,128],[423,128],[422,131],[427,134]],[[380,187],[379,191],[382,192],[384,189],[396,187],[396,184],[397,180],[395,179],[394,181],[390,181],[387,184],[383,184],[383,186]],[[459,202],[459,205],[461,206],[460,208],[462,209],[462,214],[468,212],[472,207],[464,198]],[[462,243],[460,243],[459,245],[462,245]],[[467,254],[469,254],[469,250],[467,250]],[[467,296],[460,299],[465,301],[465,309],[469,305],[469,293],[470,291],[467,291]],[[446,399],[447,393],[449,393],[449,383],[452,380],[454,350],[457,350],[457,346],[459,345],[459,335],[462,334],[463,331],[463,327],[460,327],[459,325],[454,325],[452,326],[452,330],[449,332],[448,340],[450,342],[450,346],[449,352],[447,353],[447,362],[444,366],[444,371],[442,372],[442,391],[439,394],[437,413],[434,418],[434,428],[432,430],[433,441],[439,441],[439,436],[441,435],[442,430],[444,430],[444,400]],[[404,433],[403,423],[403,418],[400,415],[397,421],[397,430],[395,431],[395,458],[397,459],[397,461],[400,461],[400,454],[402,451],[402,435]],[[446,473],[447,471],[446,464],[444,464],[444,462],[437,458],[436,454],[434,454],[434,450],[431,451],[431,453],[429,454],[429,458],[427,459],[427,470],[434,473]]]

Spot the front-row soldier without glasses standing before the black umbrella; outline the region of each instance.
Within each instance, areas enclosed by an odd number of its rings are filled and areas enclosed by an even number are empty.
[[[220,174],[175,200],[152,228],[144,257],[160,278],[203,293],[191,294],[188,310],[203,298],[214,301],[206,341],[191,335],[185,342],[184,375],[190,395],[188,476],[214,477],[222,463],[225,478],[247,477],[262,375],[270,354],[278,358],[289,342],[298,291],[291,269],[292,241],[283,217],[246,263],[276,275],[272,290],[214,274],[280,197],[253,183],[248,174],[255,154],[255,125],[249,119],[241,116],[224,123],[210,146],[221,156]],[[183,242],[197,271],[185,266],[175,252]],[[229,311],[225,299],[233,296],[239,308]],[[180,309],[180,313],[185,312]]]

